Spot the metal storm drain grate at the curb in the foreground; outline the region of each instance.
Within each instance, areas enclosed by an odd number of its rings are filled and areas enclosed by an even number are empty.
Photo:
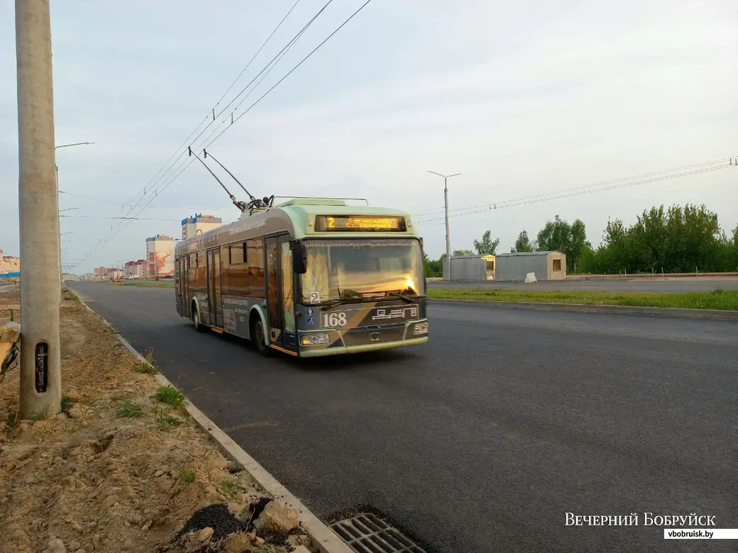
[[[356,553],[425,553],[402,532],[370,513],[331,524]]]

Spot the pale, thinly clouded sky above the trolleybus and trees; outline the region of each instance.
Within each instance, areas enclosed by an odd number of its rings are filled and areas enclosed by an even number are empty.
[[[444,181],[429,170],[461,173],[448,181],[453,249],[489,229],[509,251],[555,215],[582,219],[596,246],[608,219],[661,204],[706,204],[726,231],[738,223],[738,167],[505,206],[738,156],[734,0],[372,0],[246,111],[364,2],[331,2],[241,102],[325,1],[297,1],[219,103],[294,0],[52,2],[56,144],[94,142],[56,156],[73,272],[143,258],[146,237],[181,236],[195,212],[238,218],[184,156],[216,137],[208,150],[255,195],[404,209],[427,221],[431,257],[445,251]],[[5,255],[19,250],[13,9],[0,2]],[[230,125],[231,113],[243,116]]]

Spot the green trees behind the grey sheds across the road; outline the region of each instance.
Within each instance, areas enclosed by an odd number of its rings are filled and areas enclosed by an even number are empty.
[[[531,240],[518,234],[511,251],[563,251],[567,271],[578,274],[692,273],[738,271],[738,225],[730,234],[721,229],[717,214],[706,206],[652,207],[638,215],[632,225],[608,220],[601,243],[587,240],[581,219],[546,221]],[[500,239],[486,231],[474,240],[474,250],[455,250],[452,255],[494,255]],[[438,260],[426,256],[427,277],[442,277],[446,254]]]

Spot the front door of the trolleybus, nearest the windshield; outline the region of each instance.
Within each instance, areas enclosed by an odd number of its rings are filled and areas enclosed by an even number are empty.
[[[266,305],[270,343],[296,352],[292,250],[286,234],[266,239]]]

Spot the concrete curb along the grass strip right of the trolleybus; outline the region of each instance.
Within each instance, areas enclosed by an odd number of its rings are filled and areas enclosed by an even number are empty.
[[[728,311],[720,309],[686,309],[682,307],[636,307],[632,305],[591,305],[580,303],[494,302],[486,301],[484,299],[429,299],[430,302],[458,305],[489,305],[490,307],[508,307],[509,309],[574,311],[578,313],[621,313],[626,315],[679,317],[681,319],[738,321],[738,311]]]

